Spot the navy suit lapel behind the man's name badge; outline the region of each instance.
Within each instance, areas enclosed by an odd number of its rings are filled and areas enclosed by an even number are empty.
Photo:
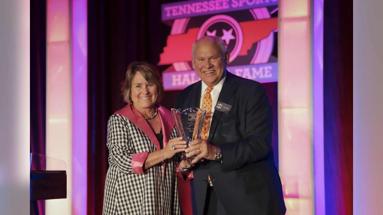
[[[229,71],[226,71],[226,79],[223,82],[221,92],[219,93],[219,96],[218,96],[218,101],[221,101],[226,104],[230,104],[229,103],[230,98],[233,95],[235,90],[236,90],[236,82],[234,80],[234,75],[232,75]],[[208,137],[209,143],[211,142],[211,138],[213,138],[214,131],[218,125],[218,121],[221,118],[222,114],[224,114],[222,111],[217,111],[217,110],[214,111],[213,119],[211,120],[211,125],[210,125],[209,137]]]

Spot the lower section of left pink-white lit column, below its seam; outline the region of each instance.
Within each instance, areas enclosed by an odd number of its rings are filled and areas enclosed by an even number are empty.
[[[67,199],[46,200],[46,214],[70,214],[72,147],[69,44],[47,47],[46,155],[63,160],[67,170]],[[58,213],[59,211],[59,213]]]

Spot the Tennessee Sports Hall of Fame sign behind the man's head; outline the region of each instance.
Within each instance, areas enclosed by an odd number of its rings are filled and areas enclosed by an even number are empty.
[[[221,37],[230,52],[228,70],[259,82],[278,81],[278,0],[194,0],[162,5],[162,21],[172,26],[158,65],[165,90],[199,81],[191,66],[193,43]]]

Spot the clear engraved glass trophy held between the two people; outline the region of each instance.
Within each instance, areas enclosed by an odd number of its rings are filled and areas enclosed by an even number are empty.
[[[182,140],[186,141],[187,147],[189,147],[191,141],[201,138],[201,130],[206,117],[206,108],[203,108],[203,110],[200,108],[172,108],[172,115],[178,137],[182,137]],[[199,155],[199,153],[187,158],[185,151],[182,151],[181,160],[191,161],[194,160],[197,155]]]

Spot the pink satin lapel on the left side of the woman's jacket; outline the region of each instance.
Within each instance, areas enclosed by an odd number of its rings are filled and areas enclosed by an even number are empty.
[[[116,111],[115,114],[120,114],[128,118],[131,122],[134,123],[134,125],[139,127],[139,129],[141,129],[150,138],[150,140],[152,140],[152,142],[155,145],[155,148],[157,148],[157,150],[160,150],[160,143],[158,142],[157,137],[155,137],[154,132],[151,129],[150,125],[146,122],[144,117],[136,110],[136,108],[132,108],[130,104],[128,104],[123,109]]]

